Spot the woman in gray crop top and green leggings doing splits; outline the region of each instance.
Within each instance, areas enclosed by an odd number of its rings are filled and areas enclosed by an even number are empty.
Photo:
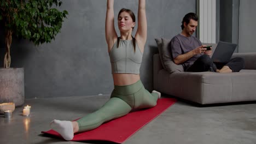
[[[107,1],[106,40],[112,66],[114,90],[110,99],[99,110],[77,121],[51,122],[51,128],[65,140],[72,140],[74,133],[80,133],[99,127],[111,119],[125,116],[131,110],[154,107],[161,97],[159,92],[149,93],[139,77],[139,68],[147,39],[146,0],[139,0],[138,29],[132,37],[135,27],[135,15],[129,9],[121,9],[118,14],[118,37],[114,28],[114,0]]]

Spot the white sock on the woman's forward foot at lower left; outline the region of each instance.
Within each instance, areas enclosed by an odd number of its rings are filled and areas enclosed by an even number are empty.
[[[54,119],[50,126],[53,130],[57,131],[63,139],[70,141],[74,137],[73,125],[71,121],[60,121]]]

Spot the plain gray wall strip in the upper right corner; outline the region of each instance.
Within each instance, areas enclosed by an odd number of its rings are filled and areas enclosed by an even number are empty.
[[[239,52],[256,52],[255,49],[255,23],[256,1],[240,1],[239,10]]]

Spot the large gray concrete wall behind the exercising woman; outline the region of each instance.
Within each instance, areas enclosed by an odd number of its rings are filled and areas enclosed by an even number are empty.
[[[55,40],[35,47],[27,40],[14,38],[11,45],[11,66],[25,68],[25,98],[110,94],[113,80],[104,36],[106,1],[62,2],[61,9],[67,10],[69,15]],[[115,16],[123,7],[132,9],[137,15],[137,3],[133,0],[115,1]],[[171,39],[181,32],[183,16],[195,11],[195,0],[147,1],[148,40],[141,79],[149,91],[153,87],[152,57],[158,52],[154,38]],[[2,64],[3,35],[0,38]]]

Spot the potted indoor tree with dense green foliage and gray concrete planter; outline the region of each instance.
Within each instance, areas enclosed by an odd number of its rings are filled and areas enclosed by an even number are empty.
[[[10,47],[13,35],[30,40],[36,46],[50,43],[60,32],[63,19],[68,14],[66,10],[56,9],[61,4],[60,0],[3,0],[0,2],[0,20],[4,23],[6,49],[4,68],[0,70],[0,103],[14,101],[16,106],[24,104],[24,69],[10,68]],[[13,79],[13,77],[18,78]],[[14,83],[10,84],[10,80]],[[17,84],[21,87],[16,88]]]

